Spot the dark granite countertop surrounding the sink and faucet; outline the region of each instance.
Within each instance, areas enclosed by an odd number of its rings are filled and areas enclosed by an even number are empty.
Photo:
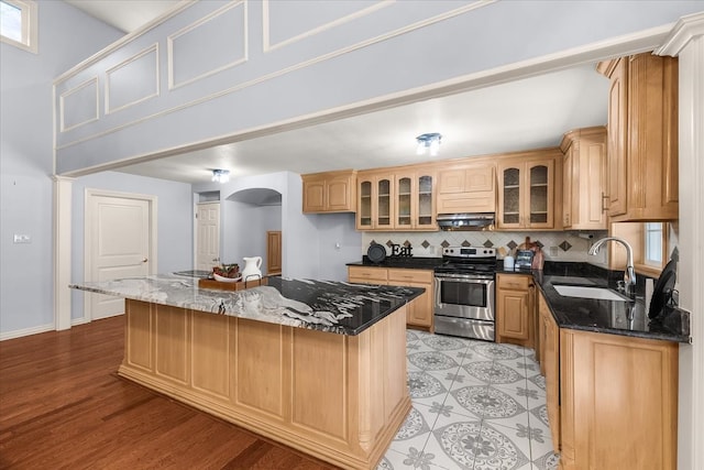
[[[504,274],[531,274],[560,328],[620,335],[664,341],[690,341],[689,314],[667,308],[661,316],[649,319],[642,293],[634,300],[602,300],[565,297],[554,285],[581,285],[614,288],[623,273],[588,263],[547,263],[543,271],[504,271]]]

